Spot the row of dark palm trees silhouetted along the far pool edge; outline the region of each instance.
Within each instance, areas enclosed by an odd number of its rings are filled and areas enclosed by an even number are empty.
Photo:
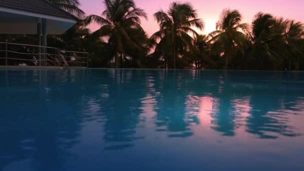
[[[223,9],[214,31],[203,35],[203,19],[192,4],[173,1],[149,18],[159,26],[149,36],[141,26],[147,14],[133,0],[102,0],[101,14],[88,16],[78,0],[47,1],[79,17],[63,35],[48,35],[48,45],[87,51],[92,67],[304,69],[304,25],[292,19],[257,12],[244,23],[239,10]],[[100,28],[91,32],[90,23]],[[0,38],[36,42],[32,35]]]

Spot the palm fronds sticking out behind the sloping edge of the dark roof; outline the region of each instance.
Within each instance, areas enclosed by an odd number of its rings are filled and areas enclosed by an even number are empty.
[[[47,0],[47,1],[78,18],[82,18],[84,16],[84,12],[79,8],[80,6],[79,0]]]

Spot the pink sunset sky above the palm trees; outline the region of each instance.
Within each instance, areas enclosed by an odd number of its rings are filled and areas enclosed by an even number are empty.
[[[148,20],[142,20],[142,26],[149,35],[157,29],[153,13],[157,9],[167,10],[172,0],[134,0],[137,7],[144,9],[148,14]],[[209,33],[215,29],[215,22],[223,8],[238,9],[243,15],[243,22],[250,23],[254,14],[258,11],[268,12],[276,16],[295,19],[304,22],[304,0],[178,0],[192,3],[200,18],[205,22],[202,33]],[[80,0],[81,8],[86,14],[98,14],[104,10],[102,0]],[[90,25],[92,30],[97,25]]]

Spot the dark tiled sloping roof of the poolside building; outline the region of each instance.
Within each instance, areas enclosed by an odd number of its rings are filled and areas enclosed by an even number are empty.
[[[0,0],[0,7],[76,20],[74,15],[55,7],[46,0]]]

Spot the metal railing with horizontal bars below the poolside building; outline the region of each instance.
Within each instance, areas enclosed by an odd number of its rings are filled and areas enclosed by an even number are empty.
[[[4,48],[1,48],[1,45]],[[85,66],[88,67],[88,53],[66,51],[55,47],[0,41],[0,60],[4,65],[33,66]]]

